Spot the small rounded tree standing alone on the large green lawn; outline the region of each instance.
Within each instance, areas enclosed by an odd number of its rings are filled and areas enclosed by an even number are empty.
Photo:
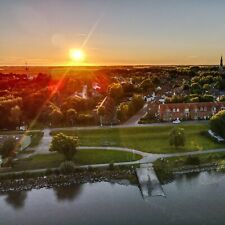
[[[169,137],[170,145],[175,148],[181,147],[185,145],[185,135],[183,128],[174,128],[170,132]]]

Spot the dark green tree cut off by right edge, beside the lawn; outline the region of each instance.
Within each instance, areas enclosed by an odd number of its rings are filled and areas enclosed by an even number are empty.
[[[222,110],[211,117],[210,129],[217,135],[225,138],[225,110]]]

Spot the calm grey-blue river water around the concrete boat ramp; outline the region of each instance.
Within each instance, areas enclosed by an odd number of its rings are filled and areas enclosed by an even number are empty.
[[[225,175],[182,175],[166,198],[144,201],[137,186],[111,183],[0,195],[1,225],[225,224]]]

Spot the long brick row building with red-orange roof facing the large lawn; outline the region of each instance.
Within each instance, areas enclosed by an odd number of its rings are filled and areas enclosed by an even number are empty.
[[[202,120],[225,110],[225,102],[169,103],[158,106],[161,121]]]

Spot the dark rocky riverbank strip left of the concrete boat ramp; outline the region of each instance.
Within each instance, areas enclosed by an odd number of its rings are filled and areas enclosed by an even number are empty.
[[[31,189],[53,188],[74,184],[115,182],[127,180],[129,184],[138,184],[135,166],[120,166],[108,169],[76,169],[69,174],[63,174],[58,169],[37,173],[23,173],[0,176],[0,193],[10,191],[27,191]]]

